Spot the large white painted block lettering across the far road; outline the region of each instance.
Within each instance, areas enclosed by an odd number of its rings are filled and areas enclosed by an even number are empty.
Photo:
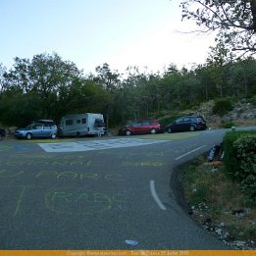
[[[162,143],[169,140],[157,139],[138,139],[138,138],[119,138],[119,139],[102,139],[76,142],[59,142],[59,143],[38,143],[38,145],[48,153],[57,152],[82,152],[91,150],[102,150],[110,148],[124,148],[142,145]]]

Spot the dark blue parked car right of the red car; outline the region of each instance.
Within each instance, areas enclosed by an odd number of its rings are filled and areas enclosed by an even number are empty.
[[[173,123],[166,126],[165,130],[169,133],[175,131],[185,131],[185,130],[198,130],[198,129],[206,129],[206,122],[201,116],[187,116],[180,117]]]

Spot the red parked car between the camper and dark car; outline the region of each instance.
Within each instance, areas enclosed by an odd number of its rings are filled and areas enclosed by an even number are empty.
[[[136,121],[124,128],[120,128],[120,135],[133,135],[133,134],[155,134],[162,131],[161,125],[157,120],[141,120]]]

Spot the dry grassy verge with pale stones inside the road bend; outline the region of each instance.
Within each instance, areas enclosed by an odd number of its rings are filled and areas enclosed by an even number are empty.
[[[256,245],[256,203],[227,178],[220,162],[205,159],[197,158],[182,172],[184,199],[193,218],[219,238]]]

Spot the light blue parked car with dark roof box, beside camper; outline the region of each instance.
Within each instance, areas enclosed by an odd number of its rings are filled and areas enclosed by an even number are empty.
[[[34,137],[56,138],[57,134],[58,128],[52,120],[38,120],[36,123],[32,123],[26,128],[17,128],[15,130],[16,137],[26,139]]]

